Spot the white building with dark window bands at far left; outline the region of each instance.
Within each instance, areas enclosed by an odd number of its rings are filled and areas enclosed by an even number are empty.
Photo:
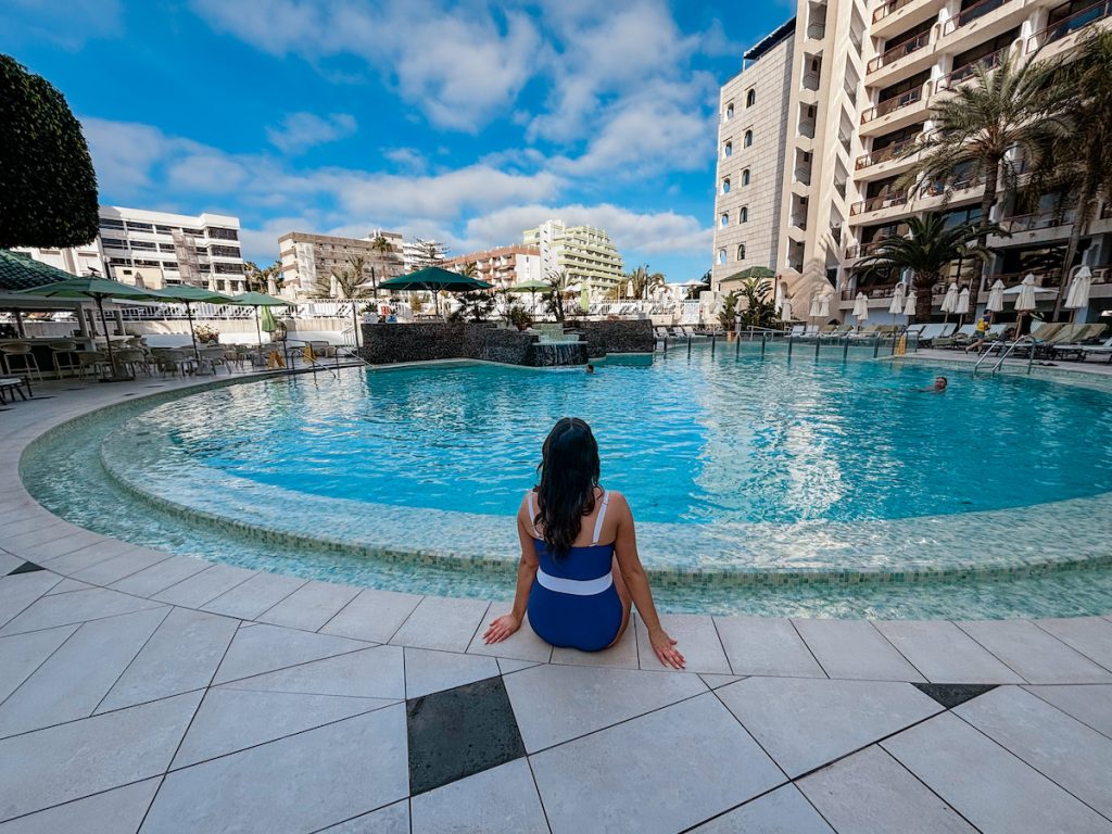
[[[247,289],[238,217],[101,206],[100,246],[108,277],[122,284]]]

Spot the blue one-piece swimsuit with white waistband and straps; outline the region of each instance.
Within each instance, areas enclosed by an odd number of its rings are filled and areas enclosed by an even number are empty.
[[[533,493],[528,495],[529,524],[537,517]],[[573,547],[556,558],[533,528],[537,547],[537,578],[529,590],[529,625],[554,646],[598,652],[618,636],[624,613],[614,587],[614,543],[598,544],[609,496],[603,490],[602,507],[590,545]]]

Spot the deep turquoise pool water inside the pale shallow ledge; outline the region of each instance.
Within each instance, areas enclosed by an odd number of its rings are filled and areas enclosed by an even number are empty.
[[[1014,377],[732,350],[652,365],[492,365],[224,388],[155,409],[198,463],[358,502],[513,514],[562,416],[646,522],[793,524],[946,515],[1112,490],[1112,396]],[[224,415],[235,415],[226,419]]]

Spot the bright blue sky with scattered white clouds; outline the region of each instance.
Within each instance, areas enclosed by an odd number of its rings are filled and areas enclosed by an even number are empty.
[[[0,51],[85,125],[101,202],[279,235],[518,242],[607,229],[627,267],[711,264],[717,89],[785,0],[4,0]]]

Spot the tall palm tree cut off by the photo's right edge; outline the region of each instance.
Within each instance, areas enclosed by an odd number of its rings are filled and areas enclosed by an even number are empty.
[[[1044,170],[1034,178],[1042,193],[1058,191],[1076,196],[1076,214],[1062,258],[1062,280],[1054,304],[1062,307],[1070,268],[1081,238],[1103,201],[1112,203],[1112,30],[1092,31],[1074,59],[1060,68],[1062,98],[1069,102],[1071,129],[1053,142]]]

